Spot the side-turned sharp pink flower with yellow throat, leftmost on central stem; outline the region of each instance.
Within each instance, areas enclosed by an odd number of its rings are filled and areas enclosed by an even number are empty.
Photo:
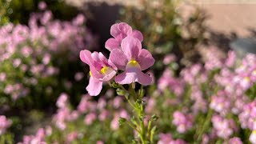
[[[98,52],[90,53],[89,50],[82,50],[80,58],[90,66],[90,82],[86,90],[91,96],[97,96],[102,90],[102,82],[110,81],[117,73],[117,67]]]

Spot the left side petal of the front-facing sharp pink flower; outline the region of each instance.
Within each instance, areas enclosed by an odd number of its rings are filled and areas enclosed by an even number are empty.
[[[119,70],[125,70],[128,62],[126,55],[123,54],[122,50],[114,49],[110,53],[110,61],[118,67]]]

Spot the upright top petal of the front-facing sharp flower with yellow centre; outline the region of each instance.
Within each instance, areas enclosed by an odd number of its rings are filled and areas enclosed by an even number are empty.
[[[131,59],[136,60],[138,58],[139,51],[142,50],[142,43],[138,38],[127,36],[122,40],[121,47],[124,54],[126,54],[128,61]]]

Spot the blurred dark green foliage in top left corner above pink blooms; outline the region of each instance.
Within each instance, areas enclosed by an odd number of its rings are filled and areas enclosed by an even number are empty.
[[[78,10],[66,5],[63,0],[0,0],[0,26],[6,22],[26,24],[30,13],[38,11],[38,3],[46,2],[55,18],[70,20],[78,14]]]

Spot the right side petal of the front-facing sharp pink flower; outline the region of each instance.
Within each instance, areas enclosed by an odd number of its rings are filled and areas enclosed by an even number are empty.
[[[146,70],[154,65],[154,58],[148,50],[142,49],[138,54],[138,63],[141,66],[141,70]]]

